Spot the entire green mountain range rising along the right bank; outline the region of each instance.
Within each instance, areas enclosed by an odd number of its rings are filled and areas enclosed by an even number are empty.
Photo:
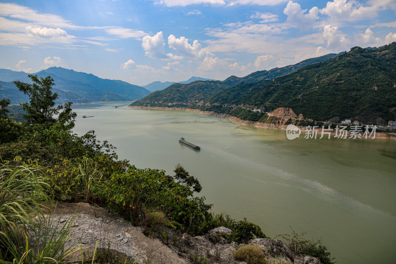
[[[289,107],[306,119],[385,123],[396,116],[396,42],[380,48],[353,47],[347,53],[218,83],[172,85],[132,105],[199,108],[253,121],[264,111]]]

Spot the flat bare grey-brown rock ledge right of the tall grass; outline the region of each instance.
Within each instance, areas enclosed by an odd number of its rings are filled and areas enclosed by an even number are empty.
[[[98,248],[110,249],[115,255],[128,257],[150,264],[186,264],[188,260],[178,256],[178,252],[164,245],[157,238],[144,235],[143,227],[133,226],[129,221],[118,215],[109,213],[107,209],[90,206],[87,203],[58,204],[55,220],[61,217],[64,222],[76,212],[71,237],[85,248],[86,256],[92,256],[98,241]],[[67,246],[67,245],[66,245]],[[77,252],[70,262],[80,261],[81,252]]]

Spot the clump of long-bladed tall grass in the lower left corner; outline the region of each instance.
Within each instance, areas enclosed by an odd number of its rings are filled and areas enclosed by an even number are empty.
[[[72,252],[64,244],[73,218],[59,226],[46,215],[47,182],[40,169],[0,164],[0,264],[59,263]]]

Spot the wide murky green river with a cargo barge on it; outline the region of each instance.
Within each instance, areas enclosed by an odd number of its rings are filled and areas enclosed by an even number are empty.
[[[127,106],[74,106],[74,131],[95,130],[137,167],[172,174],[181,163],[214,212],[247,217],[270,237],[292,226],[322,237],[337,263],[396,262],[396,141],[288,140],[286,131]],[[201,150],[179,144],[182,136]]]

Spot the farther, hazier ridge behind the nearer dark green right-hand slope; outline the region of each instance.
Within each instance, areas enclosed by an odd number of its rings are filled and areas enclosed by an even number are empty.
[[[316,58],[306,59],[297,64],[274,68],[269,71],[256,71],[242,78],[230,76],[222,82],[196,81],[188,85],[171,85],[162,91],[153,92],[147,97],[132,103],[131,106],[200,106],[203,99],[206,99],[225,88],[235,86],[242,82],[253,83],[273,79],[275,77],[294,72],[305,65],[326,61],[336,57],[337,55],[338,54],[331,53]]]

